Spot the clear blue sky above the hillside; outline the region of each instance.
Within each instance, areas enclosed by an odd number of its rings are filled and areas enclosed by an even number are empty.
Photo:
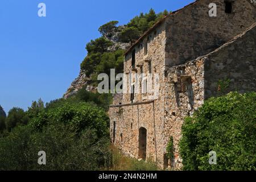
[[[38,4],[46,3],[46,17]],[[152,7],[177,10],[193,0],[1,0],[0,105],[24,110],[32,101],[63,96],[78,76],[85,45],[110,20],[126,24]]]

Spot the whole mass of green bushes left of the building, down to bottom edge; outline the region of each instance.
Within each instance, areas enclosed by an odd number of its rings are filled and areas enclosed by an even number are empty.
[[[30,107],[34,117],[28,125],[15,126],[0,137],[0,170],[97,170],[110,166],[105,110],[76,98],[55,100],[40,110],[36,105]],[[37,163],[39,151],[46,152],[47,165]]]

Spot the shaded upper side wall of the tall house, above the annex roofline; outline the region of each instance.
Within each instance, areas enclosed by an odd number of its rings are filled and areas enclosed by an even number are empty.
[[[208,15],[216,3],[217,16]],[[255,7],[246,0],[233,3],[233,13],[225,13],[224,0],[203,0],[177,11],[166,19],[166,65],[183,64],[206,55],[241,34],[256,22]]]

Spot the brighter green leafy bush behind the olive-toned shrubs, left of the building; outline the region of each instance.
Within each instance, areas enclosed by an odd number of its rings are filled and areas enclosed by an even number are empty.
[[[108,134],[109,118],[105,111],[86,102],[63,102],[59,107],[39,113],[38,117],[32,119],[30,126],[41,130],[51,122],[71,125],[78,131],[93,129],[99,138]]]

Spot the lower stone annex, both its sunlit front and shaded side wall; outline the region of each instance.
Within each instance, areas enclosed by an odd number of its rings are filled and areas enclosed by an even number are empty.
[[[179,140],[184,117],[192,115],[204,100],[220,93],[217,82],[230,79],[226,93],[256,91],[256,24],[208,55],[167,71],[164,104],[164,144],[174,137],[172,167],[180,169]],[[183,90],[184,88],[184,90]],[[164,151],[166,152],[166,151]]]

